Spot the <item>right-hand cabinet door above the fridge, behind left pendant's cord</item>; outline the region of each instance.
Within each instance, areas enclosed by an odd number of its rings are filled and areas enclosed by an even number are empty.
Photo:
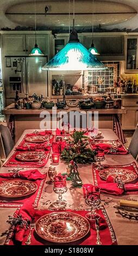
[[[43,54],[49,56],[49,35],[38,34],[36,37],[37,45]],[[35,46],[35,35],[26,35],[26,53],[27,55]]]

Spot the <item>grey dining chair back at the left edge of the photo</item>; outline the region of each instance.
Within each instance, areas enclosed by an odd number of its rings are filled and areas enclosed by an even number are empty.
[[[7,158],[12,148],[14,148],[14,142],[12,141],[12,136],[8,126],[2,123],[0,124],[0,139],[1,148],[3,148],[4,156]]]

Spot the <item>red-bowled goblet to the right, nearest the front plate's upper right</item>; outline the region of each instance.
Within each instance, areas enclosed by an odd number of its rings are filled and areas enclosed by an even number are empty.
[[[101,203],[100,188],[97,186],[87,186],[85,202],[91,206],[91,212],[87,212],[86,218],[90,221],[98,220],[101,216],[96,213],[95,209]]]

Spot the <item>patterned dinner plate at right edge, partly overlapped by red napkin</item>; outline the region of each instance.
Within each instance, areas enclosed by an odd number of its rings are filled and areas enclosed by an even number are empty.
[[[137,174],[132,170],[122,168],[108,168],[99,171],[99,176],[106,180],[109,176],[112,178],[121,178],[124,183],[131,182],[137,179]]]

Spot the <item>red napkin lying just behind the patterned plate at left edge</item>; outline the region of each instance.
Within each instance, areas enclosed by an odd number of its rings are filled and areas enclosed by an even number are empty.
[[[25,170],[21,172],[18,171],[16,178],[26,179],[26,180],[37,180],[46,178],[47,174],[41,174],[39,170]],[[1,178],[14,178],[14,173],[0,173]]]

